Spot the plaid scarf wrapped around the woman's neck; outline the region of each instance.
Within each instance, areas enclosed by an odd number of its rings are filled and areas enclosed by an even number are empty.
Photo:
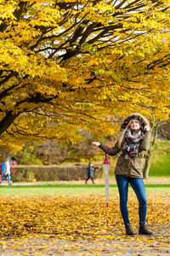
[[[143,139],[142,131],[134,131],[132,134],[130,129],[127,129],[125,133],[125,145],[122,148],[122,154],[125,154],[129,158],[134,154],[139,154],[139,143]]]

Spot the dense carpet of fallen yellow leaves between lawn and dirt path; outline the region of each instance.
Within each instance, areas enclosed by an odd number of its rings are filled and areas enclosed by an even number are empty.
[[[114,230],[124,225],[120,213],[119,195],[110,195],[106,207],[105,195],[83,193],[82,195],[12,195],[0,196],[1,235],[34,236],[54,234],[58,238],[99,238],[116,236]],[[139,204],[135,195],[129,195],[129,218],[139,229]],[[167,194],[148,195],[147,224],[168,225],[170,221]],[[165,237],[166,242],[166,237]]]

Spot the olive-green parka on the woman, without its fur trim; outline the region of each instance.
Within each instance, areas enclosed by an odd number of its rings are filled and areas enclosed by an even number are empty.
[[[124,145],[125,140],[122,141],[122,145]],[[113,148],[110,148],[108,151],[107,146],[104,143],[99,145],[106,154],[116,155],[121,152],[121,149],[118,148],[118,142],[116,142]],[[144,138],[141,140],[139,144],[139,154],[135,154],[134,157],[129,159],[125,159],[125,155],[121,154],[116,162],[116,175],[122,175],[125,177],[143,177],[143,158],[144,151],[148,151],[150,149],[150,131],[145,131]]]

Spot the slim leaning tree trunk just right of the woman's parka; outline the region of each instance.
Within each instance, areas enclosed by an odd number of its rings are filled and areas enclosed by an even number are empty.
[[[151,155],[153,153],[153,149],[154,149],[154,146],[155,146],[155,143],[156,143],[158,126],[159,126],[158,121],[156,123],[156,126],[152,125],[150,150],[148,151],[147,159],[145,160],[145,165],[144,165],[144,172],[143,172],[143,177],[144,178],[149,177]]]

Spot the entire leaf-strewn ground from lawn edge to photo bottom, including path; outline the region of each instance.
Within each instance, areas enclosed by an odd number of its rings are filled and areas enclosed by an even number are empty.
[[[118,194],[1,195],[1,255],[168,255],[168,194],[148,195],[147,226],[153,236],[139,236],[138,201],[128,197],[135,236],[125,236]]]

